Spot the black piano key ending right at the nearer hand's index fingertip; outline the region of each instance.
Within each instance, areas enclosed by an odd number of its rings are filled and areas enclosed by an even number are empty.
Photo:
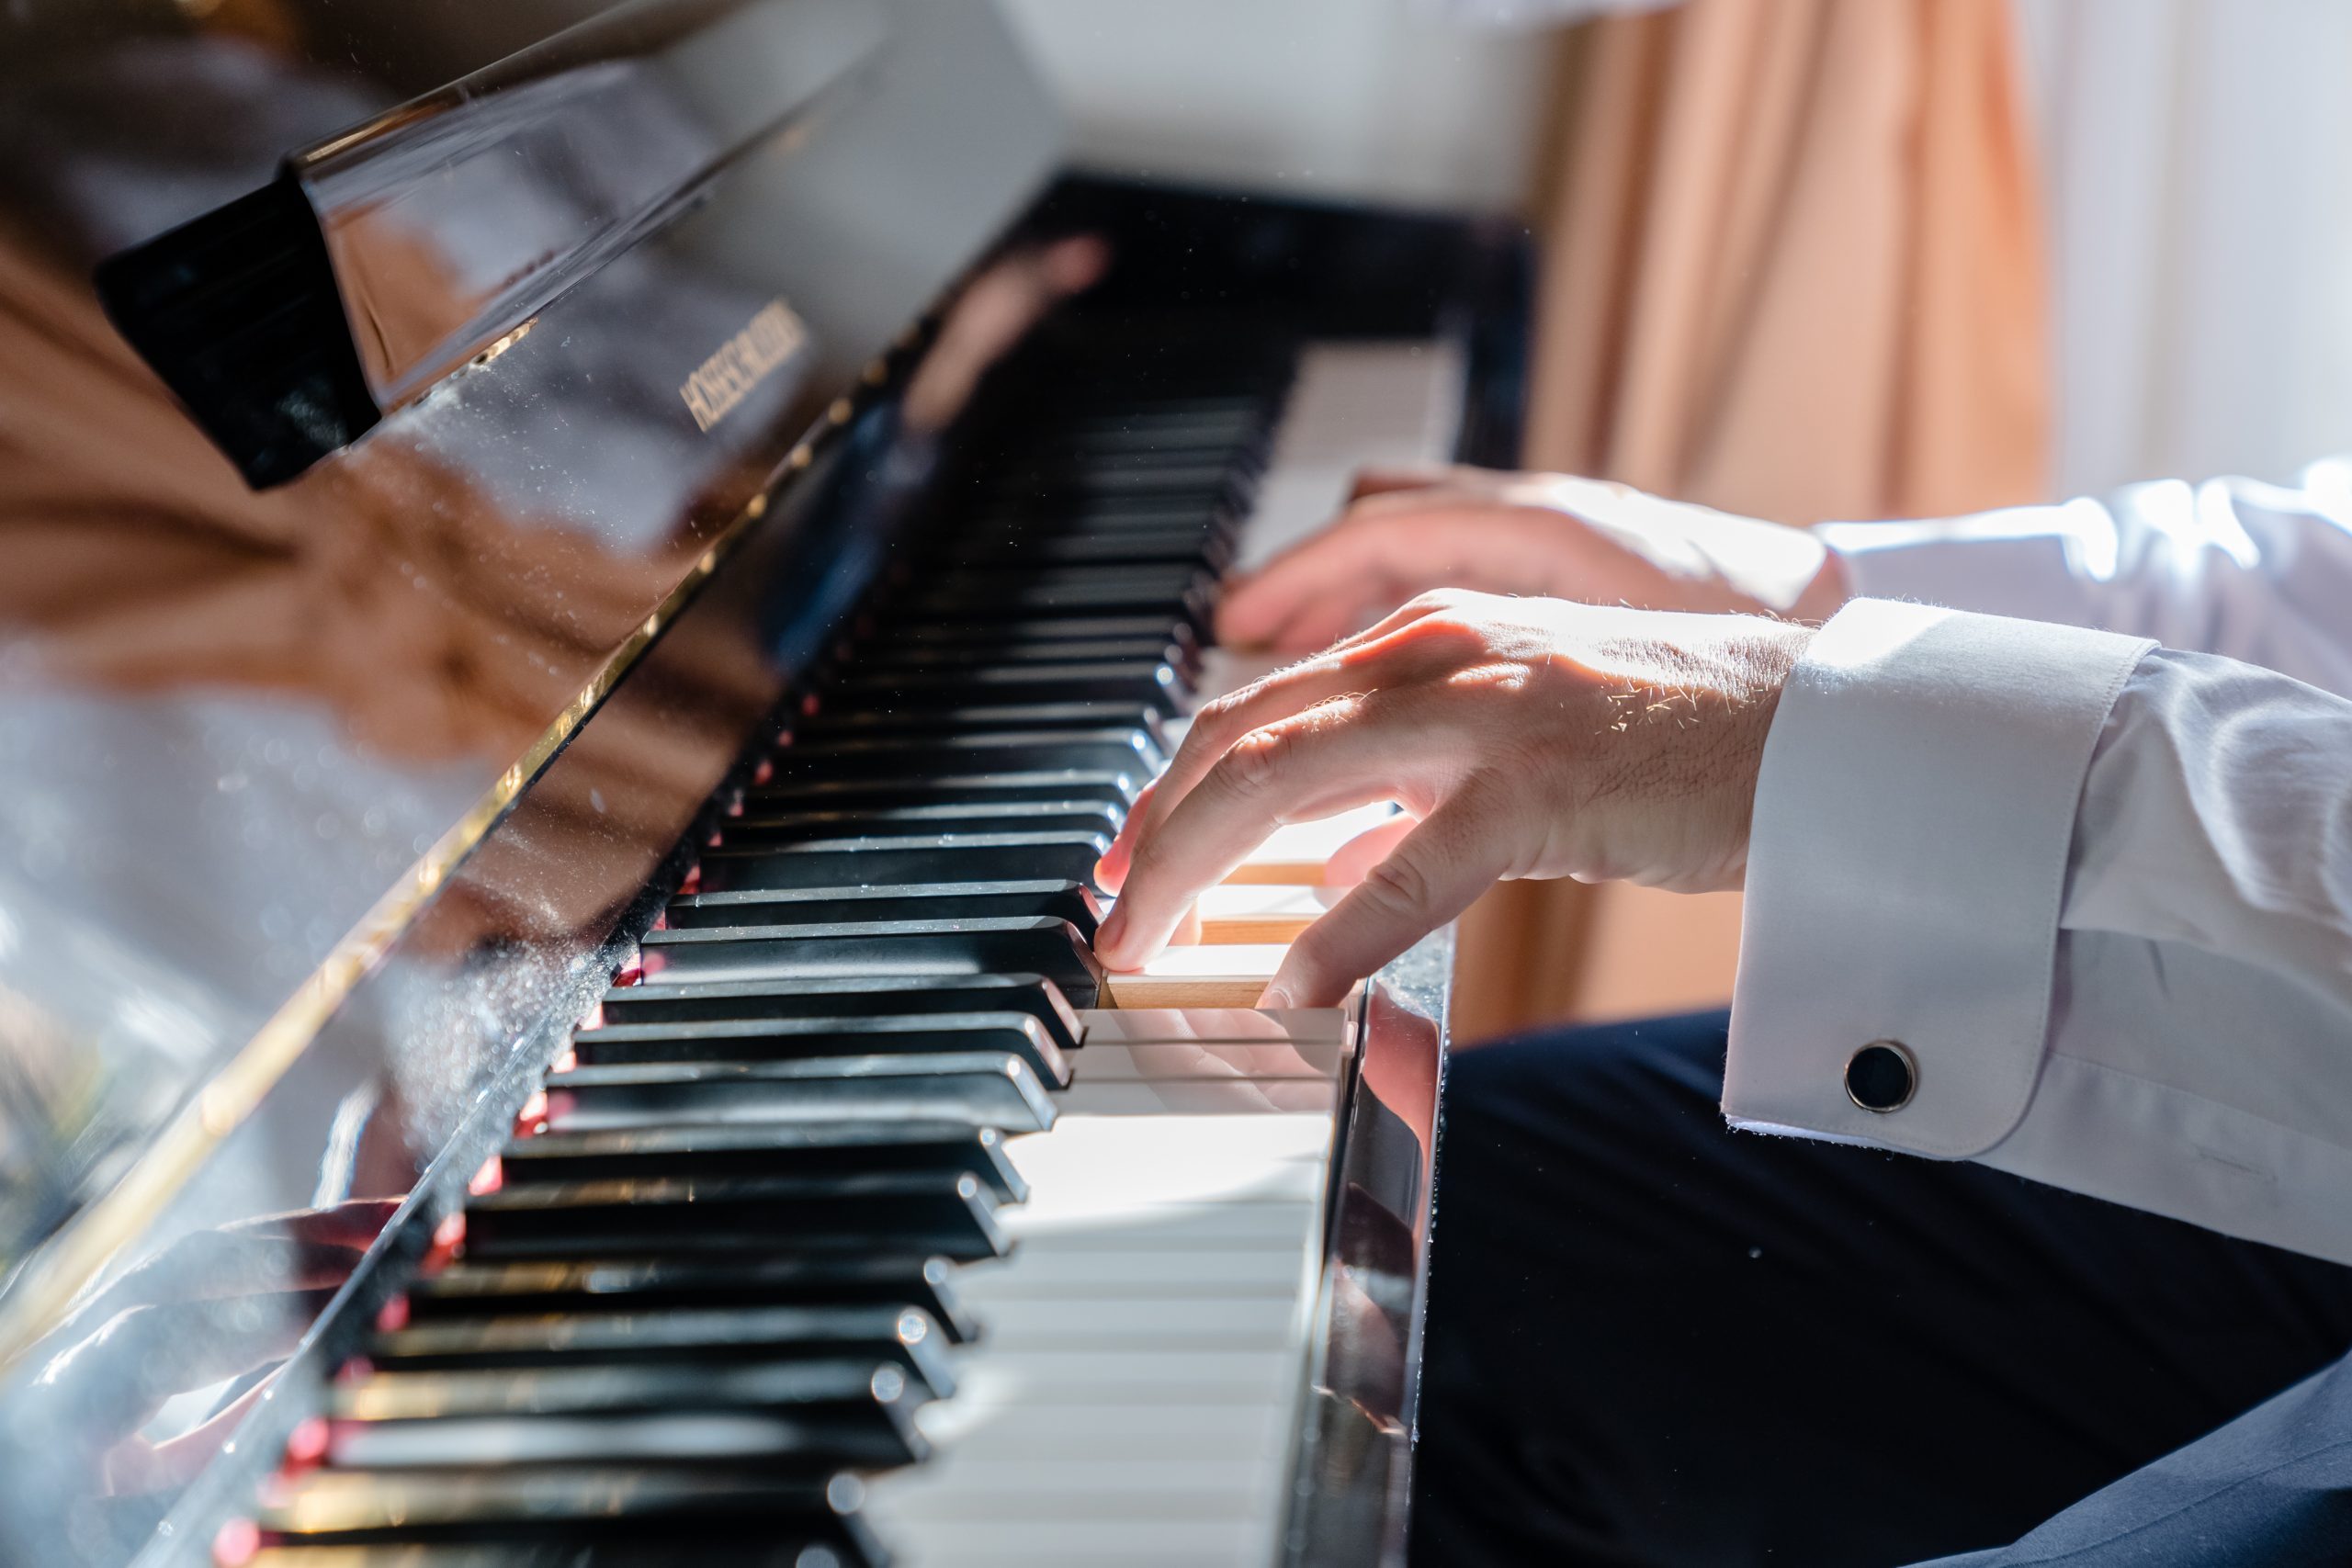
[[[1103,990],[1094,947],[1065,919],[870,919],[837,926],[647,931],[640,952],[652,973],[680,980],[1018,973],[1044,976],[1070,1006],[1094,1006]]]

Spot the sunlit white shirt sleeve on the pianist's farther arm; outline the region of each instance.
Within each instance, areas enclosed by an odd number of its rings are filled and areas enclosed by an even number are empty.
[[[1931,522],[1828,522],[1858,597],[2091,625],[2352,696],[2352,458],[2291,487],[2133,484]]]

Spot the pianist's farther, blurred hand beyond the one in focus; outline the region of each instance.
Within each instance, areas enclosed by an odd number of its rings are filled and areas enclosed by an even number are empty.
[[[1804,529],[1599,480],[1444,468],[1362,475],[1336,524],[1232,590],[1218,637],[1305,654],[1432,588],[1797,621],[1846,599]]]

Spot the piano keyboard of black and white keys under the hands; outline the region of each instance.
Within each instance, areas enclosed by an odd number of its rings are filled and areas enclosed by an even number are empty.
[[[1247,672],[1218,574],[1329,515],[1331,451],[1442,456],[1449,376],[1308,348],[1277,433],[1282,376],[1209,360],[1000,458],[219,1556],[1275,1561],[1359,1018],[1254,1001],[1383,813],[1136,976],[1091,867]],[[1296,515],[1244,531],[1258,491]]]

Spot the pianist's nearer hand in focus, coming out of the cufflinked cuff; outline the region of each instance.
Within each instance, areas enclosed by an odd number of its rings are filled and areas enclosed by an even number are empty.
[[[1134,969],[1282,823],[1367,802],[1385,858],[1291,943],[1261,1006],[1327,1006],[1501,877],[1731,889],[1764,731],[1811,630],[1430,592],[1223,696],[1101,865]],[[1367,835],[1374,837],[1374,835]]]

